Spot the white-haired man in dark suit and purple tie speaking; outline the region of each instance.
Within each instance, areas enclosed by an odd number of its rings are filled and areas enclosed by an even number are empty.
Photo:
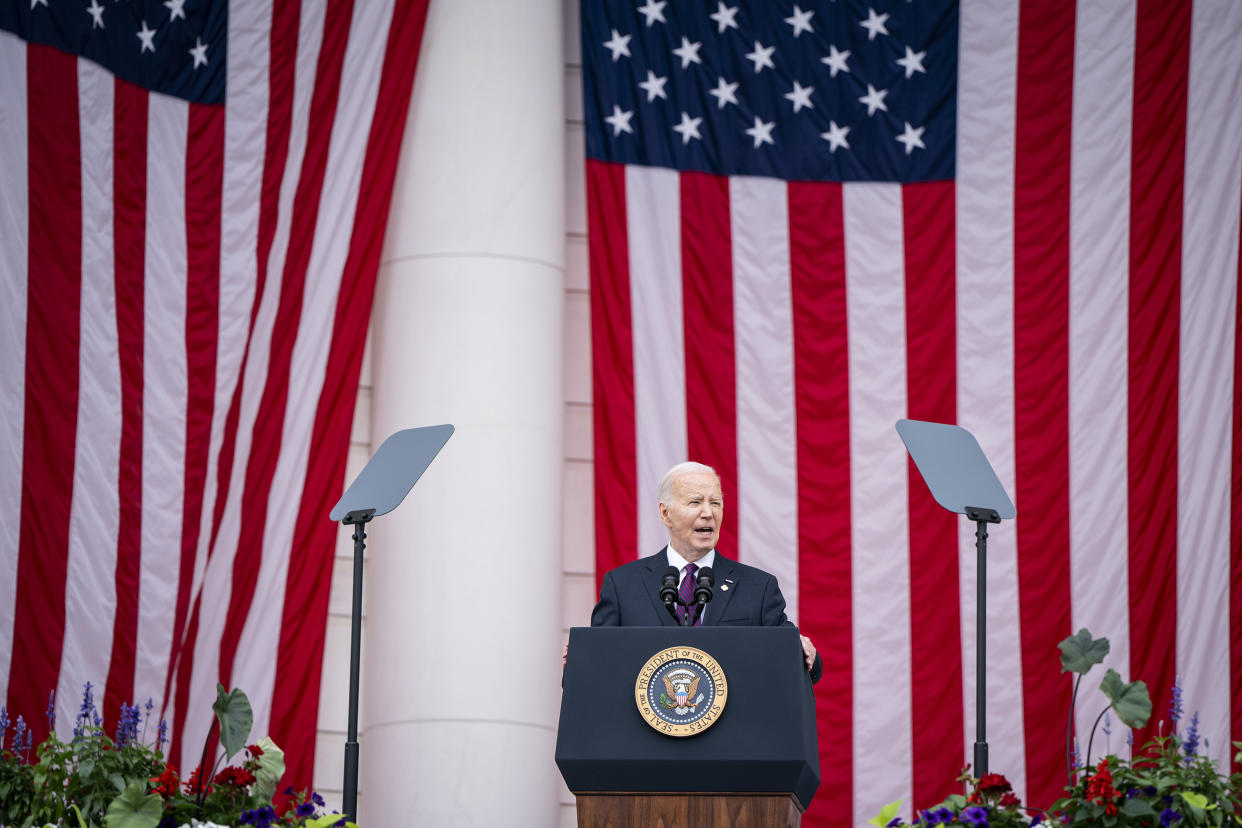
[[[715,551],[724,519],[720,478],[702,463],[679,463],[660,482],[660,520],[668,528],[668,545],[661,551],[625,564],[604,576],[600,602],[591,612],[592,627],[676,626],[660,598],[661,577],[669,566],[678,580],[712,567],[715,586],[700,618],[712,627],[784,627],[785,598],[776,578]],[[684,585],[682,592],[691,592]],[[811,680],[818,682],[823,663],[811,639],[802,636],[802,654]]]

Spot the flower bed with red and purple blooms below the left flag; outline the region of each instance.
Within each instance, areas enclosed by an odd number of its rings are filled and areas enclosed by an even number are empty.
[[[166,724],[148,734],[152,701],[143,709],[123,704],[109,737],[88,682],[66,742],[56,735],[53,693],[50,735],[37,747],[22,716],[9,741],[9,713],[0,708],[0,828],[358,828],[339,813],[324,813],[313,791],[284,788],[278,811],[273,797],[284,775],[283,751],[266,737],[246,744],[253,713],[245,693],[225,693],[217,684],[216,696],[202,762],[185,778],[164,756]],[[207,765],[216,732],[224,752]],[[235,756],[237,763],[217,770]]]

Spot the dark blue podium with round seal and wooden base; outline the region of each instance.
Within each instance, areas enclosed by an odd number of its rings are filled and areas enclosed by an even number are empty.
[[[658,699],[667,686],[661,667],[691,650],[720,674],[724,706],[704,729],[677,737],[648,724],[636,695],[651,684]],[[820,760],[797,629],[575,627],[556,766],[578,798],[580,828],[800,824],[820,786]]]

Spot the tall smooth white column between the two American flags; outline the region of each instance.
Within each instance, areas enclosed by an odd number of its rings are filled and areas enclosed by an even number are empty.
[[[374,310],[374,447],[457,432],[368,540],[360,822],[550,826],[560,700],[560,0],[433,0]]]

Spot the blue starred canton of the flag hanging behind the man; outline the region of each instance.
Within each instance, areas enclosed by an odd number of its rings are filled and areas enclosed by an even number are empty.
[[[806,181],[954,176],[958,4],[582,4],[589,158]]]

